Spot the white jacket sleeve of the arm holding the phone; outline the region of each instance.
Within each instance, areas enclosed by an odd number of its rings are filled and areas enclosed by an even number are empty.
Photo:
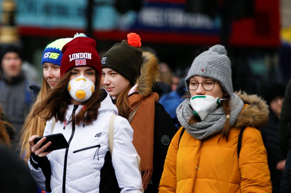
[[[45,130],[43,133],[43,136],[50,135],[52,128],[52,120],[48,121],[45,126]],[[42,159],[42,163],[38,163],[35,160],[32,159],[32,156],[30,159],[28,159],[28,167],[30,169],[31,175],[33,179],[35,180],[36,184],[39,188],[45,191],[50,191],[50,165],[49,160],[47,156],[45,156]]]

